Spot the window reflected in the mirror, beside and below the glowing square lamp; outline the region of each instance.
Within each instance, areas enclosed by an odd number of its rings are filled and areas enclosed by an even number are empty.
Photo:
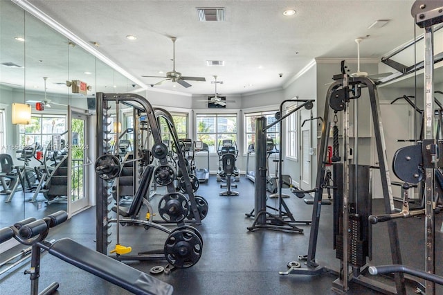
[[[31,116],[29,125],[20,125],[19,136],[21,147],[28,147],[39,143],[42,149],[51,143],[53,135],[66,132],[66,116],[64,115],[37,115]],[[62,139],[66,136],[62,136]]]

